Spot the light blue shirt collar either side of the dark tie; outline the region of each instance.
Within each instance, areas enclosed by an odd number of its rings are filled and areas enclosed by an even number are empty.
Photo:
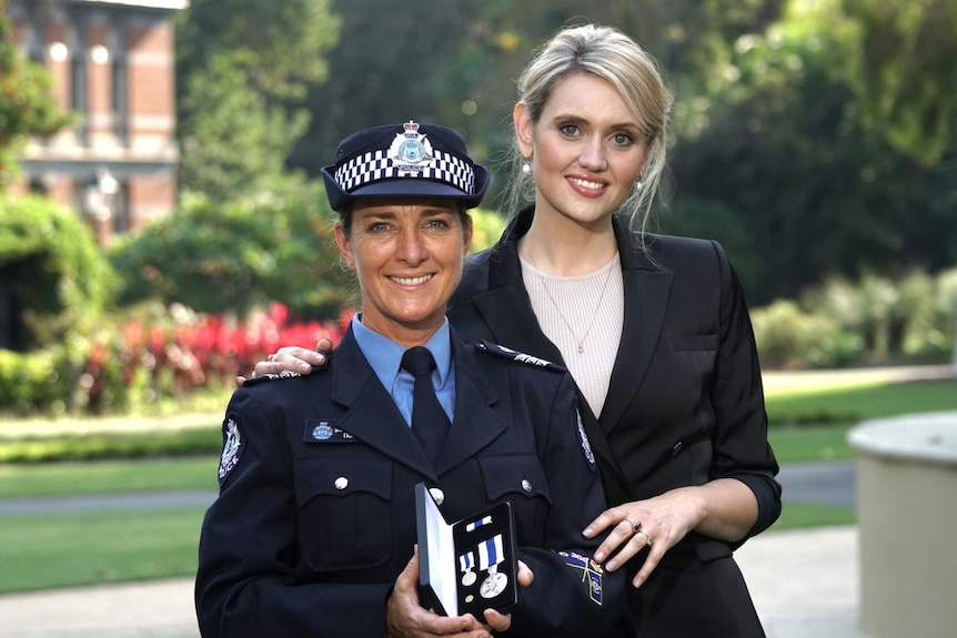
[[[405,417],[405,423],[412,426],[412,374],[402,369],[402,355],[405,348],[391,338],[362,325],[362,313],[352,317],[352,334],[359,350],[365,355],[369,365],[382,385],[392,395],[392,401],[399,412]],[[452,334],[449,332],[449,320],[442,322],[442,327],[425,344],[435,358],[435,369],[432,371],[432,385],[442,409],[453,421],[455,412],[455,368],[452,365]]]

